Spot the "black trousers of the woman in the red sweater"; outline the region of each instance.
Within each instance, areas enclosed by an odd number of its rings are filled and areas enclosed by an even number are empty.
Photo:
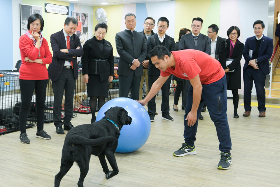
[[[37,130],[44,129],[45,119],[45,101],[46,89],[48,84],[46,80],[23,80],[20,79],[20,92],[21,92],[21,106],[19,112],[20,131],[26,132],[27,115],[31,105],[33,91],[36,94],[36,109],[37,109]]]

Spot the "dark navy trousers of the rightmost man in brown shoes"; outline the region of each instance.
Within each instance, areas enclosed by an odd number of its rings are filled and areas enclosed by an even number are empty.
[[[255,83],[257,100],[258,100],[258,110],[265,112],[265,78],[266,75],[263,74],[262,70],[255,70],[253,67],[249,66],[243,71],[243,81],[244,81],[244,109],[245,111],[251,111],[251,93],[253,88],[253,81]]]

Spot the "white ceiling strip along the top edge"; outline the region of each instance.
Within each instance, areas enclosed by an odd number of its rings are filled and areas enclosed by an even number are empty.
[[[170,1],[170,0],[81,0],[81,1],[59,0],[59,1],[87,5],[87,6],[109,6],[109,5],[147,3],[147,2]],[[108,5],[101,5],[101,3],[108,3]]]

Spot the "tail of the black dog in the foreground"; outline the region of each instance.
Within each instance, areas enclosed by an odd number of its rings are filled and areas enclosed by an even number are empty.
[[[117,141],[118,139],[113,136],[105,136],[95,139],[85,138],[83,136],[74,135],[70,137],[69,143],[87,145],[87,146],[98,146],[106,142]]]

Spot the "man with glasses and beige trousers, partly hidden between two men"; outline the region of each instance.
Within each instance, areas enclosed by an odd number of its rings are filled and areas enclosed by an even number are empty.
[[[155,20],[152,17],[147,17],[144,21],[144,29],[140,33],[145,36],[145,39],[147,39],[150,36],[154,35],[153,28],[155,27]],[[143,94],[143,82],[144,79],[146,81],[146,95],[149,93],[149,86],[148,86],[148,67],[149,67],[149,58],[148,55],[146,56],[145,60],[142,62],[143,65],[143,76],[141,77],[140,82],[140,88],[139,88],[139,100],[142,100],[142,94]]]

